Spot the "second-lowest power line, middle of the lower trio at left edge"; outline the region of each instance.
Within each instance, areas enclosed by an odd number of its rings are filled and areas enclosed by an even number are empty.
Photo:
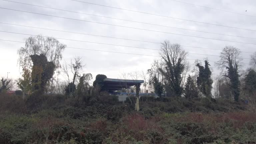
[[[37,35],[31,35],[31,34],[24,34],[24,33],[16,33],[16,32],[7,32],[7,31],[0,31],[0,32],[6,32],[6,33],[14,33],[14,34],[22,34],[22,35],[29,35],[29,36],[37,36]],[[48,36],[42,36],[48,38]],[[70,40],[70,41],[79,41],[79,42],[87,42],[87,43],[96,43],[96,44],[104,44],[104,45],[113,45],[113,46],[122,46],[122,47],[131,47],[131,48],[139,48],[139,49],[148,49],[148,50],[157,50],[161,51],[160,49],[151,49],[151,48],[142,48],[142,47],[134,47],[134,46],[125,46],[125,45],[116,45],[116,44],[109,44],[109,43],[99,43],[99,42],[91,42],[91,41],[81,41],[81,40],[73,40],[73,39],[64,39],[64,38],[56,38],[56,37],[50,37],[55,39],[62,39],[62,40]],[[198,53],[189,53],[187,54],[194,54],[194,55],[206,55],[206,56],[216,56],[219,57],[219,55],[208,55],[208,54],[198,54]],[[243,58],[243,59],[250,59],[250,58]]]

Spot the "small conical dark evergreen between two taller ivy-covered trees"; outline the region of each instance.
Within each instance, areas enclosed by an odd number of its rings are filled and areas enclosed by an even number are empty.
[[[198,88],[196,87],[193,78],[189,75],[185,83],[184,96],[187,99],[192,99],[198,97],[198,95]]]

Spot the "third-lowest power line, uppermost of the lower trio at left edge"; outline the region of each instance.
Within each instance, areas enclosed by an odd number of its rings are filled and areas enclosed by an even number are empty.
[[[93,34],[78,33],[78,32],[70,32],[70,31],[63,31],[63,30],[56,30],[56,29],[40,28],[40,27],[32,27],[32,26],[17,25],[17,24],[3,23],[3,22],[0,22],[0,23],[1,23],[1,24],[14,25],[14,26],[22,26],[22,27],[29,27],[29,28],[37,28],[37,29],[45,29],[45,30],[52,30],[52,31],[60,31],[60,32],[67,32],[67,33],[82,34],[82,35],[91,35],[91,36],[107,37],[107,38],[114,38],[114,39],[122,39],[122,40],[131,40],[131,41],[138,41],[138,42],[148,42],[148,43],[162,44],[162,43],[160,43],[160,42],[142,41],[142,40],[126,39],[126,38],[118,38],[118,37],[110,37],[110,36],[103,36],[103,35],[93,35]],[[172,45],[173,45],[173,44],[172,44]],[[204,48],[204,47],[195,47],[195,46],[185,46],[185,45],[180,45],[180,46],[183,46],[183,47],[191,47],[191,48],[200,48],[200,49],[220,50],[220,51],[222,51],[222,49],[213,49],[213,48]],[[253,53],[253,52],[245,52],[245,51],[241,51],[241,52],[244,52],[244,53]]]

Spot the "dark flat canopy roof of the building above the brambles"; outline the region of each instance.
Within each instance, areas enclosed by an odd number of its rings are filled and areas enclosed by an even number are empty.
[[[135,85],[140,85],[141,83],[144,83],[144,80],[126,80],[126,79],[111,79],[111,78],[105,78],[103,80],[104,87],[111,91],[120,90],[122,88],[131,87]]]

